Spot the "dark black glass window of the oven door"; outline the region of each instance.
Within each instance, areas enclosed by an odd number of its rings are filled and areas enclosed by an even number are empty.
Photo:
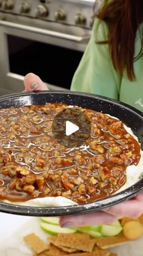
[[[10,72],[35,73],[44,82],[70,89],[83,52],[7,35]]]

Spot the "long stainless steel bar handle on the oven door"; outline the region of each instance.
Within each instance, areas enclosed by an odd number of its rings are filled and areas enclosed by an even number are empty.
[[[21,29],[24,31],[33,32],[35,34],[40,33],[43,35],[48,35],[50,37],[56,37],[56,38],[61,38],[61,39],[65,39],[65,40],[76,41],[77,43],[87,43],[88,40],[90,40],[90,35],[83,35],[82,37],[78,37],[76,35],[69,35],[69,34],[57,32],[57,31],[40,29],[40,28],[36,28],[36,27],[26,26],[23,24],[12,23],[9,21],[0,20],[0,26],[1,25],[4,27],[12,27],[13,29]]]

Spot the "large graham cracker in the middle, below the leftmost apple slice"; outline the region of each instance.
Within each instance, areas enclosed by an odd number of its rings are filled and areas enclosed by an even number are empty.
[[[95,240],[85,233],[59,233],[55,241],[56,246],[64,246],[78,251],[92,252]]]

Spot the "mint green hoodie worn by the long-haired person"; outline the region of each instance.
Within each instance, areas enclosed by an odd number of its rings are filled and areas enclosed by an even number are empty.
[[[108,44],[95,43],[105,41],[107,37],[107,24],[104,21],[99,24],[96,18],[87,49],[73,76],[71,90],[107,96],[132,105],[143,112],[143,56],[134,63],[135,81],[128,80],[126,71],[121,77],[113,68]],[[141,38],[137,32],[135,56],[140,50]]]

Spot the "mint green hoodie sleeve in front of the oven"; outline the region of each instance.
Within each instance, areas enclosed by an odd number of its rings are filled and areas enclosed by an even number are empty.
[[[96,43],[106,41],[107,37],[107,24],[96,18],[87,49],[73,76],[71,90],[119,99],[121,76],[113,68],[108,44]]]

